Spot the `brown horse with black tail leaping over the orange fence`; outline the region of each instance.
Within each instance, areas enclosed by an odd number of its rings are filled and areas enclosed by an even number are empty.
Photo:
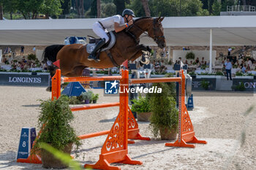
[[[104,51],[99,53],[99,62],[87,60],[89,53],[86,51],[86,45],[51,45],[45,48],[44,61],[51,63],[59,60],[59,69],[61,74],[66,77],[80,77],[83,69],[92,67],[95,69],[108,69],[113,66],[120,66],[124,61],[135,61],[143,54],[149,54],[150,47],[140,45],[140,35],[154,39],[158,47],[164,48],[165,36],[162,28],[164,18],[138,18],[132,26],[123,31],[113,34],[116,36],[116,43],[110,48],[109,53]],[[147,32],[147,33],[146,33]],[[51,53],[53,51],[53,53]],[[112,58],[111,58],[112,57]],[[58,69],[53,64],[48,64],[50,75],[53,76]]]

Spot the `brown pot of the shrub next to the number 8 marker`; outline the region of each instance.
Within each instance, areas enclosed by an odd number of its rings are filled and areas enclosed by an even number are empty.
[[[63,152],[70,155],[72,150],[72,143],[68,144]],[[62,163],[55,158],[53,154],[46,150],[41,150],[42,167],[45,169],[66,169],[69,165]]]

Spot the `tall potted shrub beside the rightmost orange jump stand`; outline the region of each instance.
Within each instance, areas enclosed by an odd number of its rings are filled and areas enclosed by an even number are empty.
[[[154,83],[162,88],[162,93],[152,93],[150,96],[151,118],[150,126],[155,137],[162,140],[176,139],[178,130],[178,110],[176,100],[170,95],[168,85],[162,82]]]

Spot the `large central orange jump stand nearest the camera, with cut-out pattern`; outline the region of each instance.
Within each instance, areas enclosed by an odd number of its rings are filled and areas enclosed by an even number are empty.
[[[129,72],[122,70],[120,87],[129,88]],[[120,93],[120,109],[102,146],[99,161],[95,164],[86,164],[84,167],[89,169],[120,169],[118,166],[110,166],[110,163],[139,164],[141,161],[133,161],[128,155],[128,93]]]

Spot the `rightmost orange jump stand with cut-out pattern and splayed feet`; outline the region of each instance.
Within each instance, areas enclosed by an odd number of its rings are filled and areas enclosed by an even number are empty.
[[[178,89],[178,139],[174,143],[165,143],[165,146],[194,148],[194,144],[187,143],[207,144],[207,142],[198,140],[195,137],[195,131],[192,125],[192,121],[190,120],[189,112],[187,112],[187,107],[185,105],[186,77],[183,70],[179,72],[179,75],[181,77],[181,82],[179,82]]]

